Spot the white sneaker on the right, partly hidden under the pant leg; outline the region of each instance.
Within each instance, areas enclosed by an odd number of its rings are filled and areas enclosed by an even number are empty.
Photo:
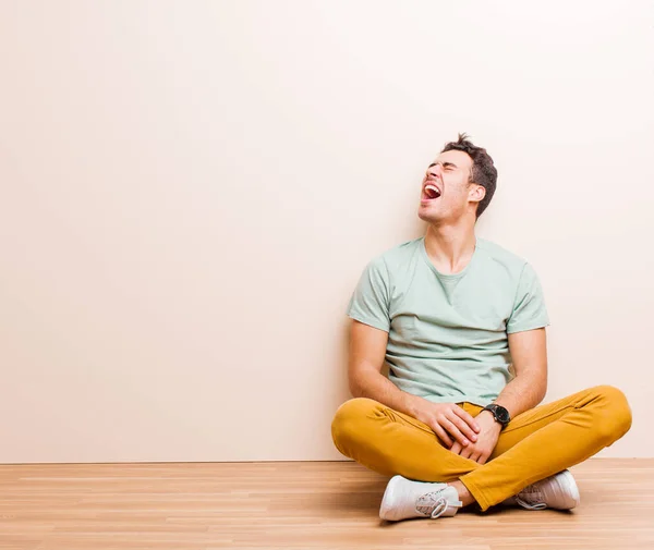
[[[502,504],[518,504],[526,510],[571,510],[579,505],[579,489],[569,469],[526,486]]]

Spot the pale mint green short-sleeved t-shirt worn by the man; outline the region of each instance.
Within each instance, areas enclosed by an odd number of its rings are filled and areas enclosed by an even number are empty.
[[[492,403],[511,379],[508,334],[549,325],[533,268],[476,240],[465,269],[440,273],[424,237],[373,259],[348,315],[388,332],[389,379],[434,403]]]

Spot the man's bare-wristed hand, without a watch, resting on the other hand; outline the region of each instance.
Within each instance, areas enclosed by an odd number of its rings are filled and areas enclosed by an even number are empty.
[[[469,413],[455,403],[421,400],[414,416],[432,428],[448,449],[451,449],[455,441],[463,449],[477,440],[480,426]]]

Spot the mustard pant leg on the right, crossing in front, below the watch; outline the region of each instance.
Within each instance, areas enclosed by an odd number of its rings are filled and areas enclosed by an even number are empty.
[[[502,430],[491,460],[461,481],[482,510],[535,481],[585,461],[631,427],[625,394],[598,386],[518,415]]]

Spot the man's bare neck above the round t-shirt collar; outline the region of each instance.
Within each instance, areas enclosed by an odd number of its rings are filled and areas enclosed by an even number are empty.
[[[463,221],[463,220],[461,220]],[[429,224],[425,249],[434,267],[441,273],[462,271],[474,254],[476,236],[474,224]]]

